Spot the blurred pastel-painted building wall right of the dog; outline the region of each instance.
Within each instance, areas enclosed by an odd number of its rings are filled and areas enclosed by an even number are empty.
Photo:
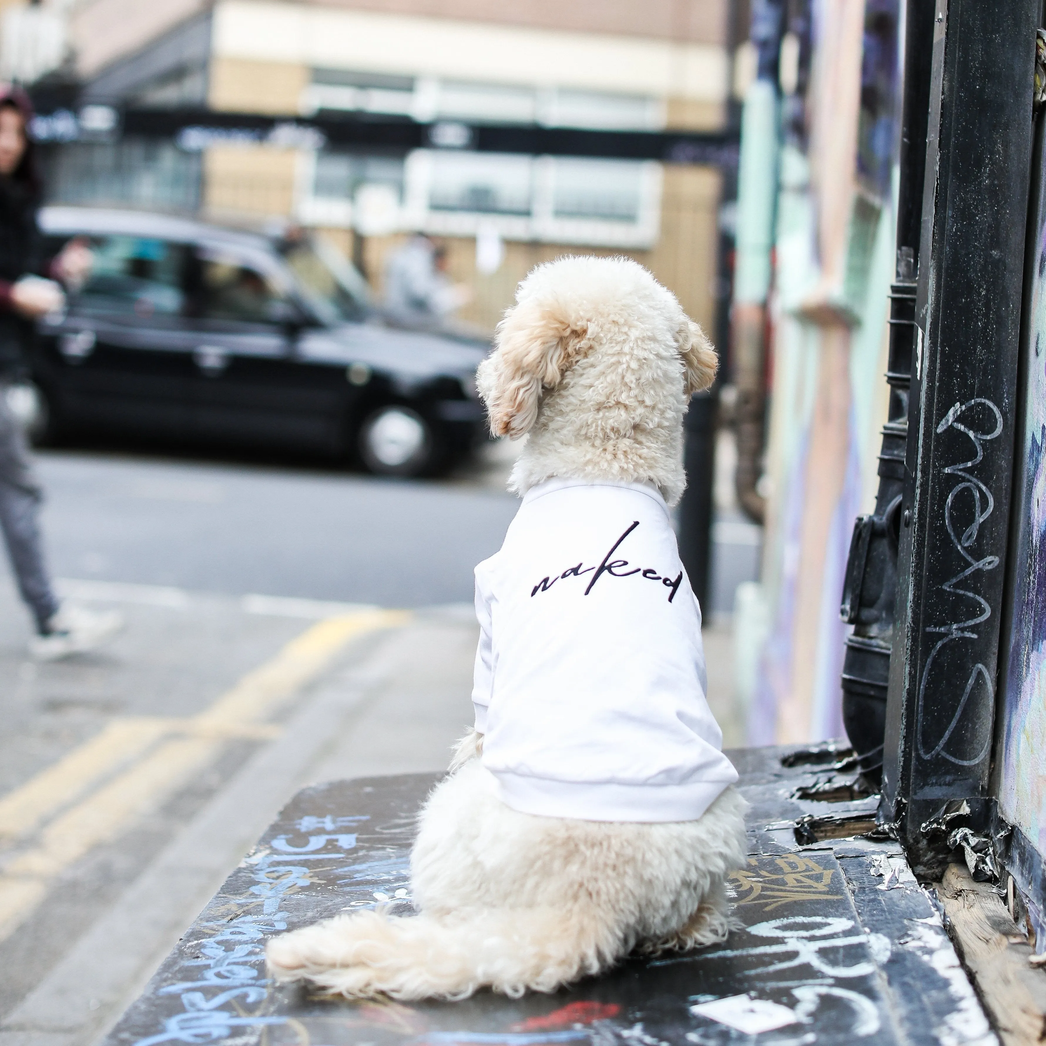
[[[770,409],[761,577],[735,628],[738,663],[758,665],[750,740],[788,744],[843,734],[840,602],[887,417],[902,8],[756,9],[766,53],[745,99],[734,321],[766,339]]]

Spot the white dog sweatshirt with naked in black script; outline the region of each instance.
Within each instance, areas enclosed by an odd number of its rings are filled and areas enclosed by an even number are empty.
[[[527,814],[696,820],[737,779],[705,701],[701,610],[653,484],[553,479],[476,567],[472,700]]]

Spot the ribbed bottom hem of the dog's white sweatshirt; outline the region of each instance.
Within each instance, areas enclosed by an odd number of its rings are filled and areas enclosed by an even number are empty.
[[[686,784],[621,784],[615,781],[560,781],[502,771],[491,772],[498,798],[521,814],[579,821],[696,821],[737,780]]]

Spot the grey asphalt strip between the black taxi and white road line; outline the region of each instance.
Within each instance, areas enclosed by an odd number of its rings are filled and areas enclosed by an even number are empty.
[[[383,607],[472,601],[518,500],[511,451],[488,448],[449,480],[334,469],[46,453],[44,527],[59,577],[264,593]],[[711,613],[755,576],[758,530],[721,508]],[[0,572],[5,565],[0,564]]]

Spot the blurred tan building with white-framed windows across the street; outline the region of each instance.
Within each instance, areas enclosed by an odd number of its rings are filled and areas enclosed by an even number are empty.
[[[478,153],[460,128],[714,131],[730,86],[728,0],[79,0],[77,105],[435,124],[434,147],[338,149],[293,133],[64,150],[68,201],[279,215],[321,228],[380,285],[413,231],[445,237],[492,327],[536,263],[585,250],[649,265],[711,326],[722,179],[713,167]],[[734,13],[735,14],[735,13]],[[736,20],[736,19],[735,19]],[[380,290],[380,287],[379,287]]]

